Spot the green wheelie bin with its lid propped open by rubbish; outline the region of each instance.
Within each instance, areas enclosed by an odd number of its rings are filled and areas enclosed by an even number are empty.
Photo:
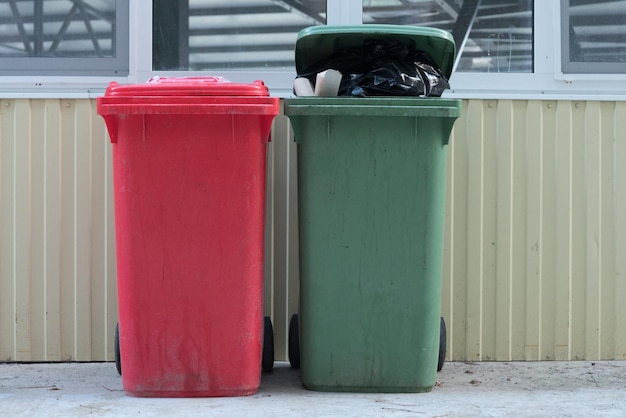
[[[428,53],[450,76],[455,45],[448,32],[393,25],[304,29],[296,70],[305,73],[339,48],[379,38]],[[304,386],[432,390],[446,154],[460,101],[294,97],[284,109],[297,143],[300,234],[299,350],[290,352]]]

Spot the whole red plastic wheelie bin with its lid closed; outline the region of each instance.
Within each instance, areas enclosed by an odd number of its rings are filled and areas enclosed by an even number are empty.
[[[255,96],[267,94],[262,84],[222,87],[112,86],[98,99],[113,142],[129,395],[259,387],[266,145],[278,101]]]

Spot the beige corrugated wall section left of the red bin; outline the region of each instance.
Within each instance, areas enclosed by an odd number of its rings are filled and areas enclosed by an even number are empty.
[[[2,100],[0,359],[113,357],[110,150],[92,100]]]

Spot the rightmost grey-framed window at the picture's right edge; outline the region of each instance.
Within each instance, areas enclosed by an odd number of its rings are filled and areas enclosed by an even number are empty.
[[[626,73],[626,1],[563,0],[564,73]]]

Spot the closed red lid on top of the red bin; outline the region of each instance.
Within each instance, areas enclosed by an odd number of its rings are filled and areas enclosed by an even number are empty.
[[[232,83],[219,76],[206,77],[152,77],[144,84],[120,85],[112,82],[105,97],[154,96],[269,96],[262,81],[252,84]]]

